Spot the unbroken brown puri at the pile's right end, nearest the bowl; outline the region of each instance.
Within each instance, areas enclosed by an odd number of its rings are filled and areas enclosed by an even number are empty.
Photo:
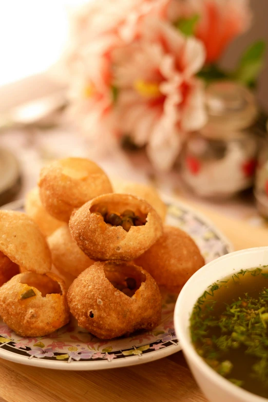
[[[182,286],[205,263],[194,240],[178,227],[164,226],[164,233],[135,262],[170,292]]]

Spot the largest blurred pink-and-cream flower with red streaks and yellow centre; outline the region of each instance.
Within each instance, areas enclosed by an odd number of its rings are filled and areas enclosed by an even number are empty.
[[[112,53],[118,120],[122,133],[147,153],[156,168],[169,169],[186,132],[206,122],[201,81],[205,52],[171,25],[145,18],[139,39]]]

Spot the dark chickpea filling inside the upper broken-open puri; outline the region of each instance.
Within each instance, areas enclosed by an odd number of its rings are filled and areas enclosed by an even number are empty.
[[[140,210],[125,209],[119,213],[109,210],[105,204],[93,205],[90,212],[100,215],[110,226],[122,226],[126,232],[129,232],[131,226],[144,226],[147,218],[147,214],[143,214]]]

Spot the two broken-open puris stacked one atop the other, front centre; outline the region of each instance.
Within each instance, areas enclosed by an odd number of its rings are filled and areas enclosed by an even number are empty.
[[[95,262],[68,291],[71,313],[79,325],[100,338],[138,329],[151,330],[161,318],[161,295],[155,280],[128,262],[162,235],[162,222],[144,200],[105,194],[73,212],[70,232]]]

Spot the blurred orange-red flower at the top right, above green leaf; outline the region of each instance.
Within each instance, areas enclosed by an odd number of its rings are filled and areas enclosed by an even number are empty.
[[[199,15],[195,36],[206,48],[206,63],[217,61],[235,36],[251,22],[248,0],[173,0],[169,17]]]

